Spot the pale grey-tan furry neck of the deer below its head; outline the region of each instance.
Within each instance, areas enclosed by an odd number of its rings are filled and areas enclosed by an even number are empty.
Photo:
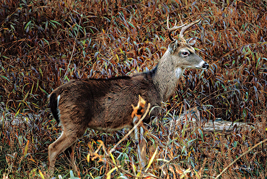
[[[163,102],[174,94],[179,79],[184,73],[184,69],[173,66],[173,60],[175,59],[167,51],[159,61],[153,76],[153,82],[158,87]]]

